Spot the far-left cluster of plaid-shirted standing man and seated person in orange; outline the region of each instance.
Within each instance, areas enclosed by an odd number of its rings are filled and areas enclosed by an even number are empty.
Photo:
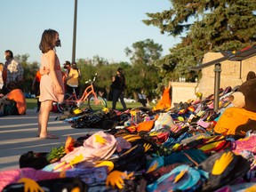
[[[0,116],[25,115],[27,103],[19,86],[24,69],[11,50],[4,52],[4,59],[5,63],[0,63]]]

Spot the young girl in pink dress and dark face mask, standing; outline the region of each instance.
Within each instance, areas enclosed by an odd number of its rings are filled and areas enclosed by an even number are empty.
[[[59,33],[53,29],[46,29],[41,38],[39,49],[41,50],[41,82],[40,111],[38,114],[38,136],[41,139],[58,139],[57,136],[47,131],[52,102],[62,102],[64,99],[64,84],[60,68],[60,60],[55,47],[60,46]]]

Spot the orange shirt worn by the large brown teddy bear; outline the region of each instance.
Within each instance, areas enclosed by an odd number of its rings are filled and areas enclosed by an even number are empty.
[[[246,124],[249,118],[256,120],[256,113],[245,110],[244,108],[227,108],[215,125],[214,132],[224,135],[235,134],[236,127],[241,124]]]

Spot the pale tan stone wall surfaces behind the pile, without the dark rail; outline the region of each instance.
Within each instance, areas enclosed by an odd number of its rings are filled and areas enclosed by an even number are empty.
[[[204,54],[203,63],[217,60],[223,57],[219,52],[208,52]],[[247,73],[256,73],[256,56],[243,61],[225,60],[220,63],[220,88],[242,84],[246,80]],[[202,92],[203,98],[214,93],[214,65],[202,69],[202,78],[198,83],[172,82],[172,107],[173,103],[185,102],[196,99],[196,92]]]

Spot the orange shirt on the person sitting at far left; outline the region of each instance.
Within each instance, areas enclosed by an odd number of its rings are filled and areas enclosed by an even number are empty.
[[[14,89],[6,94],[8,100],[15,100],[20,115],[25,115],[27,109],[26,98],[20,89]]]

